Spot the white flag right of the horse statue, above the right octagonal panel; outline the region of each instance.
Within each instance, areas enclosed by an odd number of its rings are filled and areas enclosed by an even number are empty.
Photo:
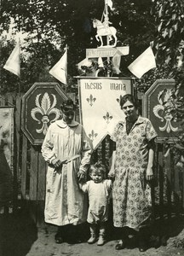
[[[155,56],[153,55],[152,48],[149,46],[128,68],[131,73],[141,79],[144,73],[147,73],[147,71],[154,67],[157,67]]]

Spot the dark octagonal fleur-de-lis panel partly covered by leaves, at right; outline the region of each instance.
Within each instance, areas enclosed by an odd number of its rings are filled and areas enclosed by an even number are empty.
[[[173,142],[178,133],[179,122],[172,109],[175,108],[171,96],[175,88],[174,79],[159,79],[147,90],[143,98],[143,115],[152,121],[158,133],[157,141]]]

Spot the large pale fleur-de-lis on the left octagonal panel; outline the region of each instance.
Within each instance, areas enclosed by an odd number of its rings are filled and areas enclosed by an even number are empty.
[[[36,120],[38,124],[43,124],[41,129],[36,129],[37,133],[42,133],[45,135],[48,131],[48,125],[49,122],[53,123],[55,120],[60,118],[60,110],[55,108],[55,105],[57,103],[56,97],[54,94],[51,94],[53,96],[53,103],[51,105],[50,97],[47,92],[44,93],[43,98],[41,100],[41,104],[39,102],[39,98],[41,96],[41,93],[36,96],[35,104],[37,108],[32,108],[31,115],[32,119]],[[42,119],[37,119],[36,115],[37,113],[40,113],[42,115]],[[49,119],[49,115],[51,113],[55,114],[54,119]]]

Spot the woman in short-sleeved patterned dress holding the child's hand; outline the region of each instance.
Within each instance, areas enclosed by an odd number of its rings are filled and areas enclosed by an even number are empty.
[[[139,231],[139,249],[146,251],[145,225],[151,216],[151,188],[154,138],[157,136],[149,119],[137,113],[133,96],[120,98],[124,121],[118,122],[112,141],[116,149],[112,153],[109,172],[114,177],[113,224],[121,228],[122,239],[116,249],[123,249],[128,239],[128,230]]]

